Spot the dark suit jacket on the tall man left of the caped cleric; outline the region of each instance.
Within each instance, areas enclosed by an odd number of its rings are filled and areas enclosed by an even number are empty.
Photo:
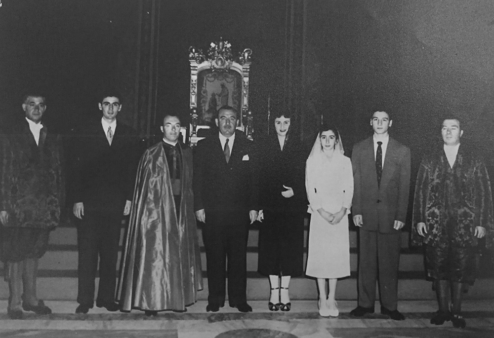
[[[122,208],[132,200],[138,161],[135,131],[117,120],[110,146],[98,119],[75,137],[71,195],[84,207]]]

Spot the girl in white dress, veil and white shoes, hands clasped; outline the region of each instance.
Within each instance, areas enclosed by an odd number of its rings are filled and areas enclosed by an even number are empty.
[[[350,158],[343,155],[336,127],[321,127],[306,162],[305,179],[308,212],[312,214],[305,273],[317,278],[319,314],[337,317],[336,282],[350,275],[348,214],[353,197],[353,173]]]

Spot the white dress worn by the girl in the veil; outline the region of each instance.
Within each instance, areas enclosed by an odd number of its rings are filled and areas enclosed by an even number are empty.
[[[353,197],[353,173],[350,158],[335,151],[329,159],[320,153],[309,157],[305,185],[312,214],[309,228],[309,253],[306,275],[316,278],[341,278],[350,275],[350,239],[348,214]],[[329,224],[317,211],[333,214],[347,208],[336,225]]]

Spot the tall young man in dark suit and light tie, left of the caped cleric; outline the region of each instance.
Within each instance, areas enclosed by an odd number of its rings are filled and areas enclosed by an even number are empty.
[[[78,296],[76,313],[93,307],[94,280],[99,256],[99,287],[96,306],[109,311],[115,303],[116,269],[123,215],[130,212],[137,137],[117,120],[120,95],[100,96],[101,119],[81,128],[76,141],[73,195],[78,224]]]

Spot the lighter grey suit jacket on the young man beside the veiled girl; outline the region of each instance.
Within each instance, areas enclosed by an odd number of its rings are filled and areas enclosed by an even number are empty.
[[[362,229],[395,231],[395,220],[405,222],[410,191],[410,149],[391,137],[377,187],[374,144],[370,137],[353,147],[353,215],[362,215]]]

